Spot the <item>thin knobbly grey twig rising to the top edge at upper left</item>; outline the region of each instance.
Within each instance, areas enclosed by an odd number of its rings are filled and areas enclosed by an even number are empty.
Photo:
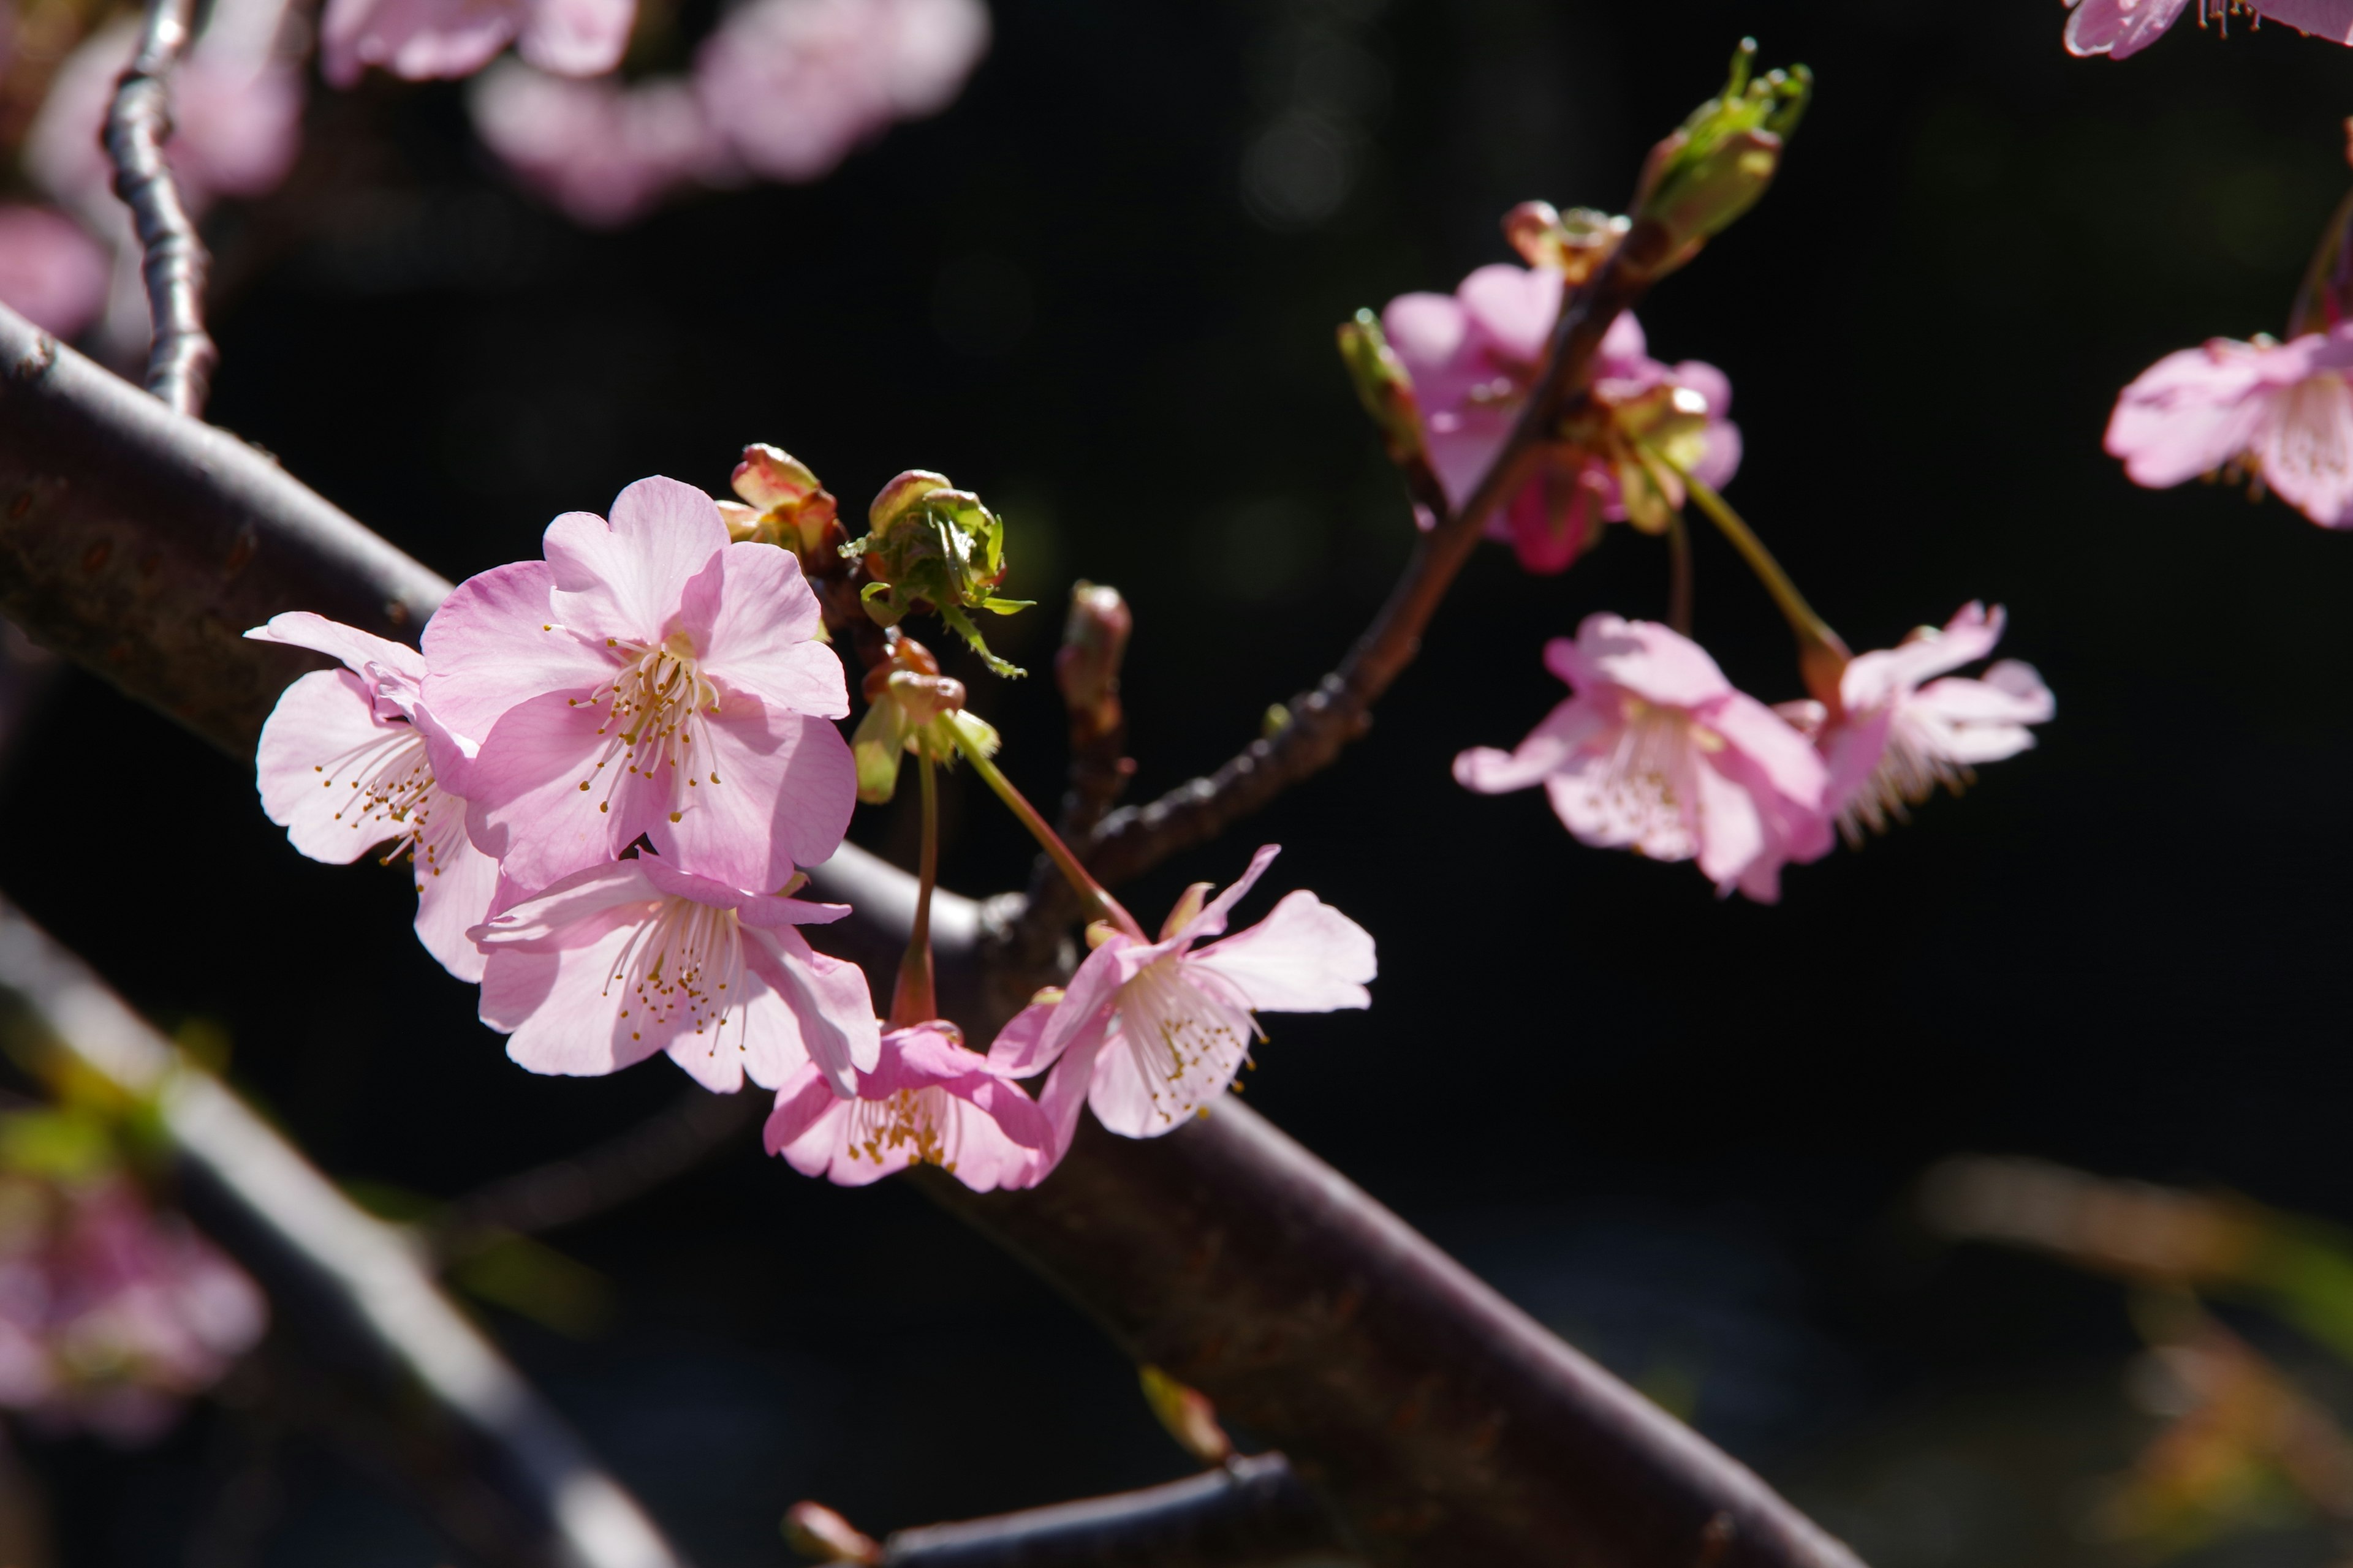
[[[139,54],[106,113],[106,155],[146,252],[141,275],[153,322],[146,386],[174,414],[198,418],[221,355],[205,334],[205,240],[162,150],[172,139],[172,71],[188,52],[193,19],[195,0],[148,0]]]

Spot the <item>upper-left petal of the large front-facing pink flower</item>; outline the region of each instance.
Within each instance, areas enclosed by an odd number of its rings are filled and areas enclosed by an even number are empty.
[[[555,623],[555,576],[515,562],[471,576],[426,621],[426,703],[461,736],[487,738],[511,708],[536,696],[588,696],[619,658]]]

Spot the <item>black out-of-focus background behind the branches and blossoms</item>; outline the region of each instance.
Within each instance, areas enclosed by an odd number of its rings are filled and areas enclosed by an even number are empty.
[[[1282,842],[1268,891],[1360,919],[1381,980],[1367,1016],[1271,1020],[1261,1110],[1882,1568],[2111,1561],[2082,1488],[2146,1432],[2122,1295],[1941,1251],[1908,1190],[2005,1150],[2353,1220],[2353,541],[2224,487],[2139,491],[2099,449],[2158,355],[2285,329],[2348,183],[2353,56],[2184,24],[2075,61],[2049,2],[993,14],[939,120],[616,235],[511,193],[456,89],[315,106],[318,148],[386,141],[313,169],[301,223],[224,216],[214,418],[449,576],[647,473],[722,489],[748,440],[845,503],[946,470],[1009,517],[1012,588],[1042,602],[1014,658],[1049,661],[1073,576],[1134,602],[1155,792],[1329,668],[1405,557],[1332,324],[1506,259],[1518,200],[1621,205],[1741,33],[1805,59],[1781,181],[1642,322],[1732,376],[1729,496],[1852,644],[2009,607],[2005,651],[2059,696],[2040,750],[1793,870],[1779,907],[1718,900],[1577,846],[1537,792],[1452,785],[1457,750],[1558,701],[1546,637],[1664,611],[1664,555],[1624,529],[1562,578],[1489,548],[1344,766],[1134,903],[1155,919]],[[1699,637],[1798,696],[1713,536]],[[1052,684],[976,686],[1052,797]],[[506,1063],[414,947],[402,877],[301,860],[249,773],[87,677],[0,792],[0,886],[158,1018],[224,1027],[339,1178],[456,1197],[685,1088]],[[948,884],[1016,886],[1021,835],[969,780],[951,802]],[[892,813],[854,837],[911,851]],[[1118,1354],[913,1192],[812,1185],[746,1135],[551,1241],[609,1281],[602,1333],[489,1321],[713,1568],[784,1561],[805,1495],[880,1533],[1188,1469]],[[233,1474],[264,1476],[266,1561],[433,1561],[301,1441],[256,1472],[264,1429],[205,1413],[129,1462],[35,1446],[68,1561],[186,1561]]]

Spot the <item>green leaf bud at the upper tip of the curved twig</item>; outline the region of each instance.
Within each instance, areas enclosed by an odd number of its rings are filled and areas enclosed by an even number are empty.
[[[1758,45],[1732,54],[1725,92],[1692,110],[1649,150],[1635,188],[1628,259],[1664,277],[1755,207],[1781,167],[1781,146],[1805,115],[1814,73],[1805,66],[1751,80]]]

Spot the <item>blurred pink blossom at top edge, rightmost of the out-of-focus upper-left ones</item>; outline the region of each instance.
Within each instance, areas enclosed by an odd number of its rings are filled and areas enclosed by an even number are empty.
[[[946,108],[986,52],[979,0],[751,0],[704,42],[694,78],[744,167],[798,183]]]

